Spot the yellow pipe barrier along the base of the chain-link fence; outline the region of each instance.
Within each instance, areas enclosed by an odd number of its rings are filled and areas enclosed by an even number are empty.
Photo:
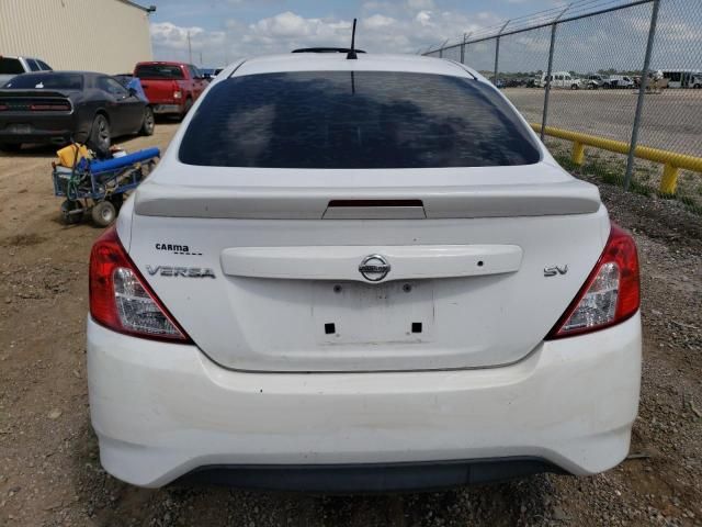
[[[541,132],[541,124],[531,123],[531,127],[534,128],[536,133]],[[586,146],[629,155],[629,143],[624,143],[622,141],[607,139],[604,137],[598,137],[597,135],[554,128],[553,126],[546,126],[544,133],[552,137],[573,142],[571,159],[576,165],[582,165],[585,161]],[[646,159],[648,161],[660,162],[664,165],[660,191],[666,194],[676,193],[679,169],[683,168],[693,172],[702,172],[702,157],[687,156],[684,154],[661,150],[649,146],[637,146],[636,150],[634,150],[634,156],[639,159]]]

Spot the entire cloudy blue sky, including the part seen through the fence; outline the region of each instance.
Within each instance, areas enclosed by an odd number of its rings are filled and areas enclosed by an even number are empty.
[[[288,53],[298,47],[350,45],[351,23],[359,19],[356,47],[370,53],[411,53],[437,48],[463,34],[485,33],[511,19],[552,20],[571,4],[568,15],[631,0],[138,0],[154,3],[150,15],[154,56],[222,67],[239,58]],[[652,4],[562,24],[554,70],[596,72],[639,69],[646,48]],[[543,14],[539,14],[543,13]],[[530,22],[529,22],[530,23]],[[490,30],[495,31],[495,30]],[[503,37],[500,71],[545,70],[550,29]],[[495,43],[468,46],[466,63],[494,67]],[[444,57],[458,59],[455,49]],[[654,68],[702,69],[702,0],[661,2]]]

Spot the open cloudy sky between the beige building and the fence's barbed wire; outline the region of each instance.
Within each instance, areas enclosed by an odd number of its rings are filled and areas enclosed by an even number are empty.
[[[367,52],[417,53],[449,36],[512,16],[554,8],[561,0],[148,0],[154,56],[216,67],[252,55],[305,46],[356,46]],[[445,36],[444,36],[445,35]]]

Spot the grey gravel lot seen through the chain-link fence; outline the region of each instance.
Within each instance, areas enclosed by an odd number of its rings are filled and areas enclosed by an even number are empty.
[[[510,101],[530,122],[541,123],[544,90],[507,88]],[[551,90],[548,124],[611,139],[632,135],[634,90]],[[702,157],[702,90],[663,90],[644,103],[638,144]]]

